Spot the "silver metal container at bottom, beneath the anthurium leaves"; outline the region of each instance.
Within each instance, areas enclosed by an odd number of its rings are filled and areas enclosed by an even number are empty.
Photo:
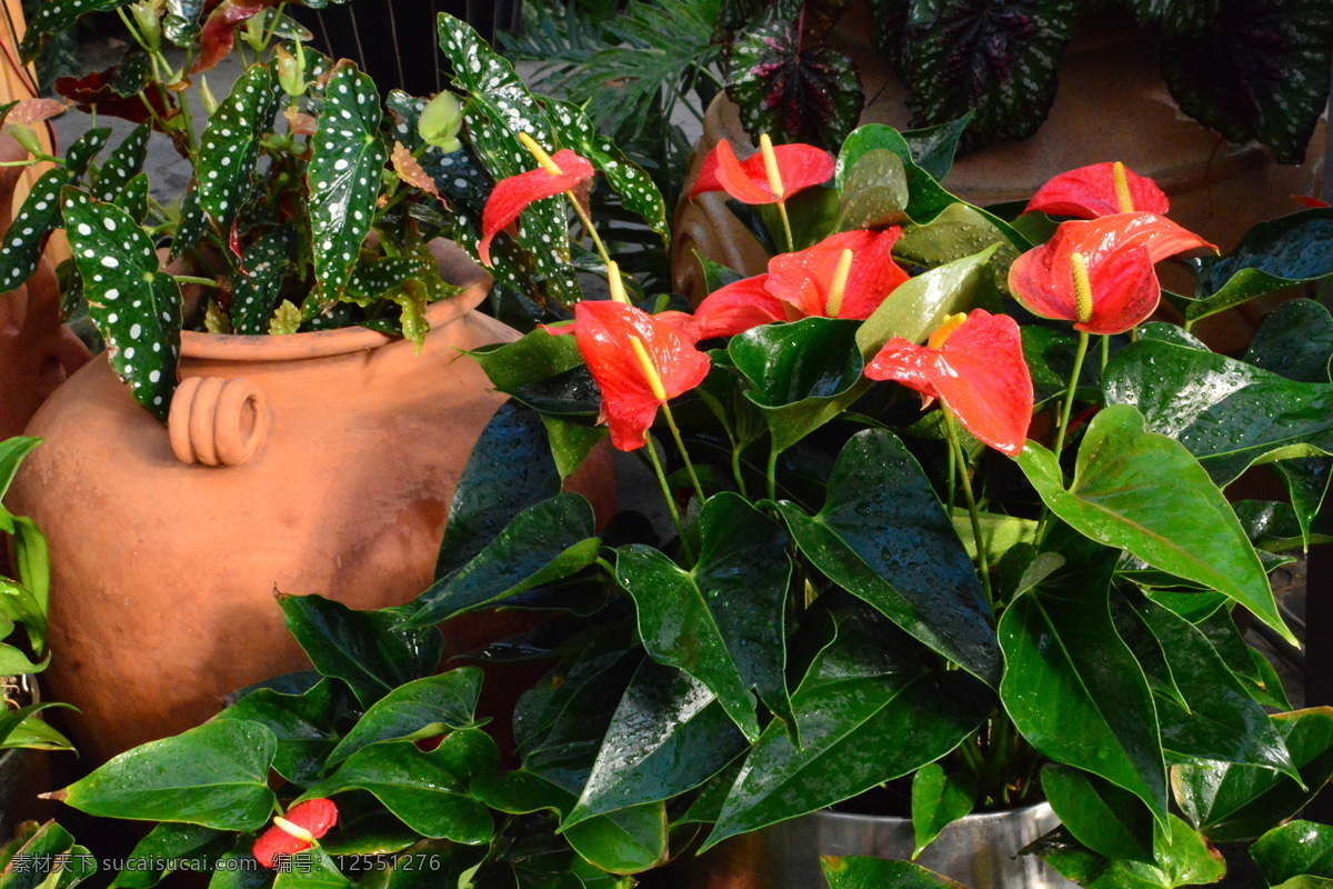
[[[968,889],[1073,888],[1073,882],[1041,858],[1018,856],[1020,849],[1058,824],[1060,818],[1045,802],[1009,812],[969,814],[945,828],[916,864],[957,880]],[[842,812],[816,812],[741,837],[741,841],[718,846],[721,860],[701,862],[708,877],[700,885],[709,889],[825,889],[821,856],[906,860],[913,849],[910,818]]]

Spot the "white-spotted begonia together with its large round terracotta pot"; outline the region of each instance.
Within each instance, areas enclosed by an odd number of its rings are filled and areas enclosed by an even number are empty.
[[[451,95],[381,97],[304,47],[280,4],[112,5],[124,60],[59,89],[140,125],[115,147],[104,128],[71,145],[0,247],[0,287],[15,287],[63,229],[67,303],[107,343],[33,420],[48,445],[13,492],[56,553],[52,638],[97,652],[51,677],[93,758],[299,662],[275,586],[371,608],[429,582],[457,474],[500,404],[459,351],[517,336],[476,307],[489,295],[524,323],[577,291],[553,255],[564,233],[540,259],[497,263],[496,287],[443,240],[476,249],[493,181],[480,159],[513,163],[485,155],[480,127],[457,137]],[[43,4],[25,52],[92,12]],[[207,72],[228,52],[249,64],[217,99]],[[193,168],[168,205],[143,171],[153,133]],[[227,557],[203,568],[217,546]]]

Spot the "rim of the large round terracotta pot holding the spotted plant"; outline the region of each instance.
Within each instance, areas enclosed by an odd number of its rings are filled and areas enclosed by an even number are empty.
[[[457,271],[457,267],[448,271]],[[448,275],[448,271],[447,277],[453,277]],[[432,331],[461,319],[477,308],[487,299],[487,293],[491,292],[491,276],[476,265],[457,284],[467,289],[457,296],[451,296],[427,307],[425,320]],[[292,361],[296,359],[323,359],[335,355],[348,355],[351,352],[365,352],[401,341],[403,337],[380,333],[379,331],[363,327],[311,331],[308,333],[288,333],[283,336],[240,336],[236,333],[181,331],[180,353],[181,357],[208,359],[211,361]]]

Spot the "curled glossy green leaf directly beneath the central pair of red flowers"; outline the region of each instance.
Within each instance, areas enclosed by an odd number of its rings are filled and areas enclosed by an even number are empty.
[[[869,388],[856,336],[854,321],[812,317],[730,339],[726,352],[750,384],[745,397],[758,405],[777,450],[837,417]]]

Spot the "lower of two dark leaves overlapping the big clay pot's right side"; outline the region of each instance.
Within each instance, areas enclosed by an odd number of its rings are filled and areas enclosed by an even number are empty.
[[[560,493],[528,506],[463,568],[441,577],[417,600],[412,625],[489,608],[525,590],[575,574],[597,560],[592,506]]]

